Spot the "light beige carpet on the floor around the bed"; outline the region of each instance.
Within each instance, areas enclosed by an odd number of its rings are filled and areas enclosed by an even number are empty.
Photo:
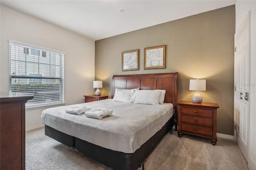
[[[44,128],[26,132],[26,170],[111,170],[44,135]],[[142,168],[138,168],[141,170]],[[168,133],[145,162],[145,170],[248,170],[236,142],[177,132]]]

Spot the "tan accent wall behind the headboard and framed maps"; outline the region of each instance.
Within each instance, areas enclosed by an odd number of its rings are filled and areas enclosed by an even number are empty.
[[[111,95],[112,75],[179,72],[178,100],[191,101],[189,79],[206,79],[204,102],[218,103],[217,132],[233,135],[235,6],[95,42],[95,80]],[[166,45],[166,69],[144,70],[144,48]],[[140,49],[138,71],[122,71],[122,51]]]

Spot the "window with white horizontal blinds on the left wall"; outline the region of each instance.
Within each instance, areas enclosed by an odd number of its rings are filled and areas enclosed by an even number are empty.
[[[9,40],[10,92],[33,95],[26,106],[64,102],[63,51]]]

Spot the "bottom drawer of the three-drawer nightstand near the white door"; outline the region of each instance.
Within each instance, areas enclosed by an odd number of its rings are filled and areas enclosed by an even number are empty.
[[[189,124],[181,123],[181,130],[212,136],[212,128],[208,128],[208,127],[201,127],[197,125],[189,125]]]

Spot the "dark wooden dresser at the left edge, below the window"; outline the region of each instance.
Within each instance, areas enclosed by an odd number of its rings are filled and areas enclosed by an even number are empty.
[[[33,96],[0,92],[0,169],[25,170],[25,103]]]

